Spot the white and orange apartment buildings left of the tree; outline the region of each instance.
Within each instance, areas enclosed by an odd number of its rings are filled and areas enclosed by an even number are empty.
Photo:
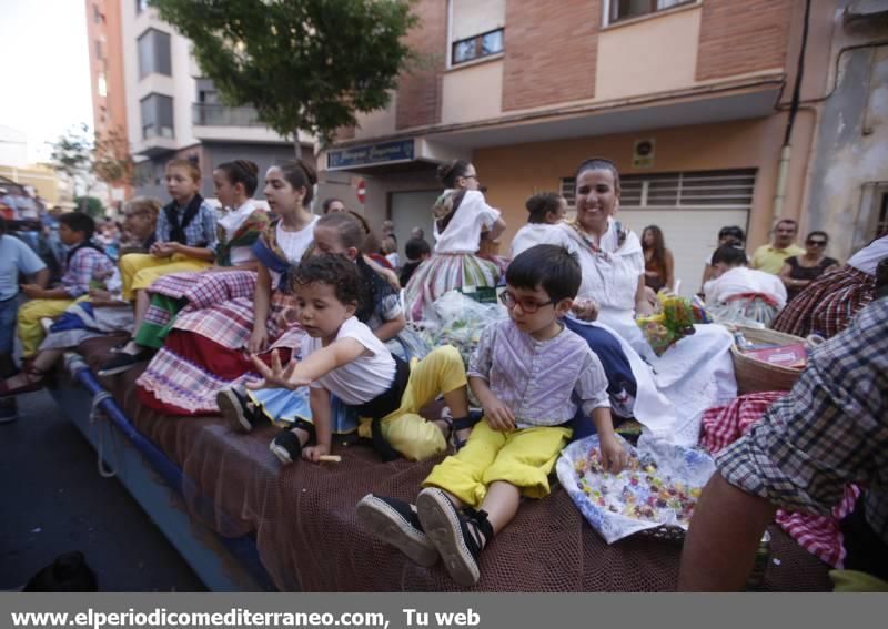
[[[90,22],[94,14],[103,16],[102,31],[90,29],[91,57],[101,50],[109,64],[104,83],[93,78],[97,129],[107,111],[127,130],[139,161],[135,194],[167,199],[163,169],[172,159],[200,165],[201,194],[211,197],[214,164],[248,159],[264,172],[293,158],[292,140],[259,122],[252,108],[220,102],[191,54],[191,42],[163,22],[147,0],[85,1]],[[301,135],[300,143],[304,159],[313,161],[313,139]]]

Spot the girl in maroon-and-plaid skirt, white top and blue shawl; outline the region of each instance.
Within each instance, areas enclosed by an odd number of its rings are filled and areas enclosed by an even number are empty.
[[[265,199],[280,216],[253,245],[259,262],[254,297],[181,312],[164,346],[138,381],[143,404],[171,415],[219,413],[216,393],[254,377],[248,353],[280,347],[297,351],[304,336],[279,315],[295,305],[291,266],[312,243],[317,217],[307,207],[317,182],[314,170],[285,162],[265,174]]]

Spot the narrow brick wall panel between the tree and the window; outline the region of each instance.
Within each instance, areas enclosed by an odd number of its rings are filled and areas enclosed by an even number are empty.
[[[395,126],[405,129],[441,122],[441,74],[447,53],[447,2],[418,0],[414,10],[421,23],[406,35],[421,55],[421,65],[401,74]]]

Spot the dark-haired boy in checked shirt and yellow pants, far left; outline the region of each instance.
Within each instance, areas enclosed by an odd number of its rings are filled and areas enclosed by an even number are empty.
[[[109,277],[114,273],[114,263],[91,242],[94,231],[95,222],[89,214],[71,212],[59,216],[59,239],[70,247],[61,285],[56,288],[22,285],[22,293],[31,300],[19,308],[18,315],[18,335],[26,361],[37,354],[43,341],[41,318],[61,315],[74,301],[85,298],[93,278]]]

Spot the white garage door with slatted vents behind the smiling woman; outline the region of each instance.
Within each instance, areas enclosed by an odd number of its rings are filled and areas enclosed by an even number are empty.
[[[663,230],[682,281],[679,293],[689,297],[700,287],[718,230],[739,225],[748,232],[755,177],[755,170],[627,175],[616,219],[639,239],[648,225]],[[562,191],[573,202],[572,179],[563,180]]]

